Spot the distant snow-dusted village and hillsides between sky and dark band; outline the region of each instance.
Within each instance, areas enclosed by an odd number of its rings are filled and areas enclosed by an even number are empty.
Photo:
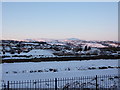
[[[119,42],[114,41],[54,40],[47,42],[1,40],[0,55],[2,60],[94,55],[118,56],[120,55],[119,45]]]

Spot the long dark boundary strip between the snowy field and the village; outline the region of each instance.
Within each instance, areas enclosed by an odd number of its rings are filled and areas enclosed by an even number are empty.
[[[41,58],[33,58],[33,59],[2,59],[2,63],[15,63],[15,62],[46,62],[46,61],[73,61],[73,60],[96,60],[96,59],[120,59],[120,55],[114,56],[114,55],[100,55],[100,56],[62,56],[62,57],[41,57]]]

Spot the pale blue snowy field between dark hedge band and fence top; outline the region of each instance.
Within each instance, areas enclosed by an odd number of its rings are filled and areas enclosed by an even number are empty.
[[[118,59],[3,63],[1,65],[4,82],[118,74]]]

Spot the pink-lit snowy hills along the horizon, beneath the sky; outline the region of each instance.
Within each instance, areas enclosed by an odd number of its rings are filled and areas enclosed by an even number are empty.
[[[66,42],[72,43],[74,42],[74,44],[84,44],[90,47],[98,47],[98,48],[104,48],[107,46],[113,46],[113,47],[117,47],[118,44],[115,44],[115,42],[113,41],[112,43],[109,43],[109,41],[87,41],[87,40],[81,40],[78,38],[66,38],[66,39],[47,39],[47,38],[37,38],[37,39],[25,39],[25,41],[43,41],[43,42],[47,42],[50,44],[56,44],[56,45],[64,45]],[[102,42],[102,43],[101,43]]]

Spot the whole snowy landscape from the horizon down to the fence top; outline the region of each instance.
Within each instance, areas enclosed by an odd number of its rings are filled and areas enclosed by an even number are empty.
[[[117,41],[3,40],[1,49],[2,83],[118,75],[120,68]]]

